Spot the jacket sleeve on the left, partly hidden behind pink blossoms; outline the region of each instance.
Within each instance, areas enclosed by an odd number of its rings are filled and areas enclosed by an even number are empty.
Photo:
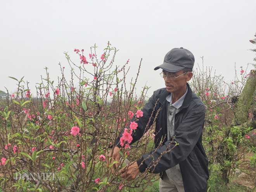
[[[138,124],[138,127],[136,130],[133,130],[132,133],[132,138],[133,140],[131,141],[130,144],[133,144],[137,140],[139,140],[145,131],[145,128],[149,128],[153,122],[154,118],[156,116],[156,95],[158,90],[154,91],[153,95],[149,98],[149,101],[145,104],[145,106],[142,108],[143,116],[140,118],[137,118],[136,115],[131,119],[130,123],[135,121]],[[155,108],[155,109],[154,109]],[[152,116],[151,116],[152,115]],[[151,117],[151,118],[150,118]],[[128,124],[128,127],[130,126],[130,123]],[[147,126],[147,124],[149,124]],[[124,130],[119,134],[119,137],[116,139],[115,145],[118,146],[119,148],[121,147],[120,145],[120,138],[123,135]]]

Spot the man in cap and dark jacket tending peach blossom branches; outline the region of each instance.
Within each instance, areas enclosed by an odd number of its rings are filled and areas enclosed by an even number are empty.
[[[143,117],[136,121],[138,127],[132,134],[131,144],[142,137],[148,122],[148,127],[152,125],[160,109],[154,138],[156,149],[123,168],[121,177],[132,180],[147,170],[160,173],[160,192],[207,191],[208,159],[202,146],[205,107],[187,83],[193,76],[194,61],[189,50],[173,48],[165,55],[163,64],[154,68],[163,69],[160,75],[166,87],[156,90],[143,107]],[[120,137],[112,161],[119,161]]]

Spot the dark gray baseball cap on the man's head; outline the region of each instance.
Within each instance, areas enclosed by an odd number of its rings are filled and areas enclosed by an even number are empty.
[[[154,70],[161,68],[164,71],[175,73],[184,68],[193,69],[194,63],[195,57],[189,50],[183,47],[173,48],[165,55],[163,64],[155,67]]]

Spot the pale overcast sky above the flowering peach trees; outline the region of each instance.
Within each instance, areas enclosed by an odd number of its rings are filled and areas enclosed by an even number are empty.
[[[68,67],[64,51],[76,58],[74,48],[88,53],[96,43],[100,54],[107,41],[119,49],[117,65],[130,59],[130,78],[143,58],[137,88],[147,83],[148,96],[164,86],[154,67],[174,47],[189,49],[195,66],[204,56],[206,66],[231,81],[234,63],[239,70],[255,57],[249,51],[256,48],[249,42],[256,32],[255,7],[255,0],[2,0],[0,90],[15,90],[8,76],[25,76],[34,92],[45,66],[53,80],[59,62]]]

